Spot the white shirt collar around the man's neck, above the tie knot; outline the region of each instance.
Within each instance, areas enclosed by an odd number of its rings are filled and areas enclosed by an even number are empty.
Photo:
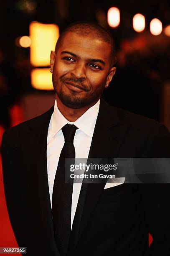
[[[57,101],[54,103],[54,112],[52,118],[52,136],[54,137],[64,125],[67,123],[76,125],[87,136],[92,138],[94,127],[96,124],[97,115],[99,113],[100,100],[94,106],[89,108],[83,115],[81,115],[75,122],[69,122],[60,112],[57,107]]]

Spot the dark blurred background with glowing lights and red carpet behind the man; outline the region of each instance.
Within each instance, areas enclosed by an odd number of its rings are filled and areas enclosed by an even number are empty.
[[[95,21],[114,36],[117,72],[103,98],[170,130],[168,0],[5,0],[0,1],[0,141],[5,129],[53,105],[50,51],[59,33],[78,20]],[[4,196],[0,200],[0,246],[16,246]]]

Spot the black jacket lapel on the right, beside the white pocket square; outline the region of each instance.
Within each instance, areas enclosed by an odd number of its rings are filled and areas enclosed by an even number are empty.
[[[115,108],[101,99],[88,158],[115,158],[127,131],[127,126],[121,123]],[[68,255],[79,242],[106,182],[82,184]]]

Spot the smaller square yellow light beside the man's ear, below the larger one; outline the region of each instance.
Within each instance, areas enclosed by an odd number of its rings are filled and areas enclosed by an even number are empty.
[[[38,90],[53,90],[52,74],[49,69],[33,69],[31,84]]]

